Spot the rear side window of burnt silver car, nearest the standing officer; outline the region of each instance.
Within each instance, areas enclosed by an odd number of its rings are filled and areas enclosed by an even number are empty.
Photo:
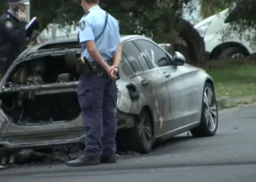
[[[129,64],[134,69],[135,74],[150,69],[146,63],[146,60],[143,59],[140,50],[138,50],[132,41],[129,41],[123,45],[123,53],[127,57]]]

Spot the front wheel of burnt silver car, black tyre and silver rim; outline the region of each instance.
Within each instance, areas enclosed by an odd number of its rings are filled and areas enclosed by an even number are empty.
[[[191,130],[194,137],[213,136],[218,128],[218,106],[214,88],[206,82],[203,91],[201,121],[198,127]]]

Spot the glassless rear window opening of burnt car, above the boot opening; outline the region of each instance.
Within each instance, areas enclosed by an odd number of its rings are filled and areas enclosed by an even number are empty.
[[[23,61],[10,74],[6,87],[78,81],[76,59],[68,54]]]

